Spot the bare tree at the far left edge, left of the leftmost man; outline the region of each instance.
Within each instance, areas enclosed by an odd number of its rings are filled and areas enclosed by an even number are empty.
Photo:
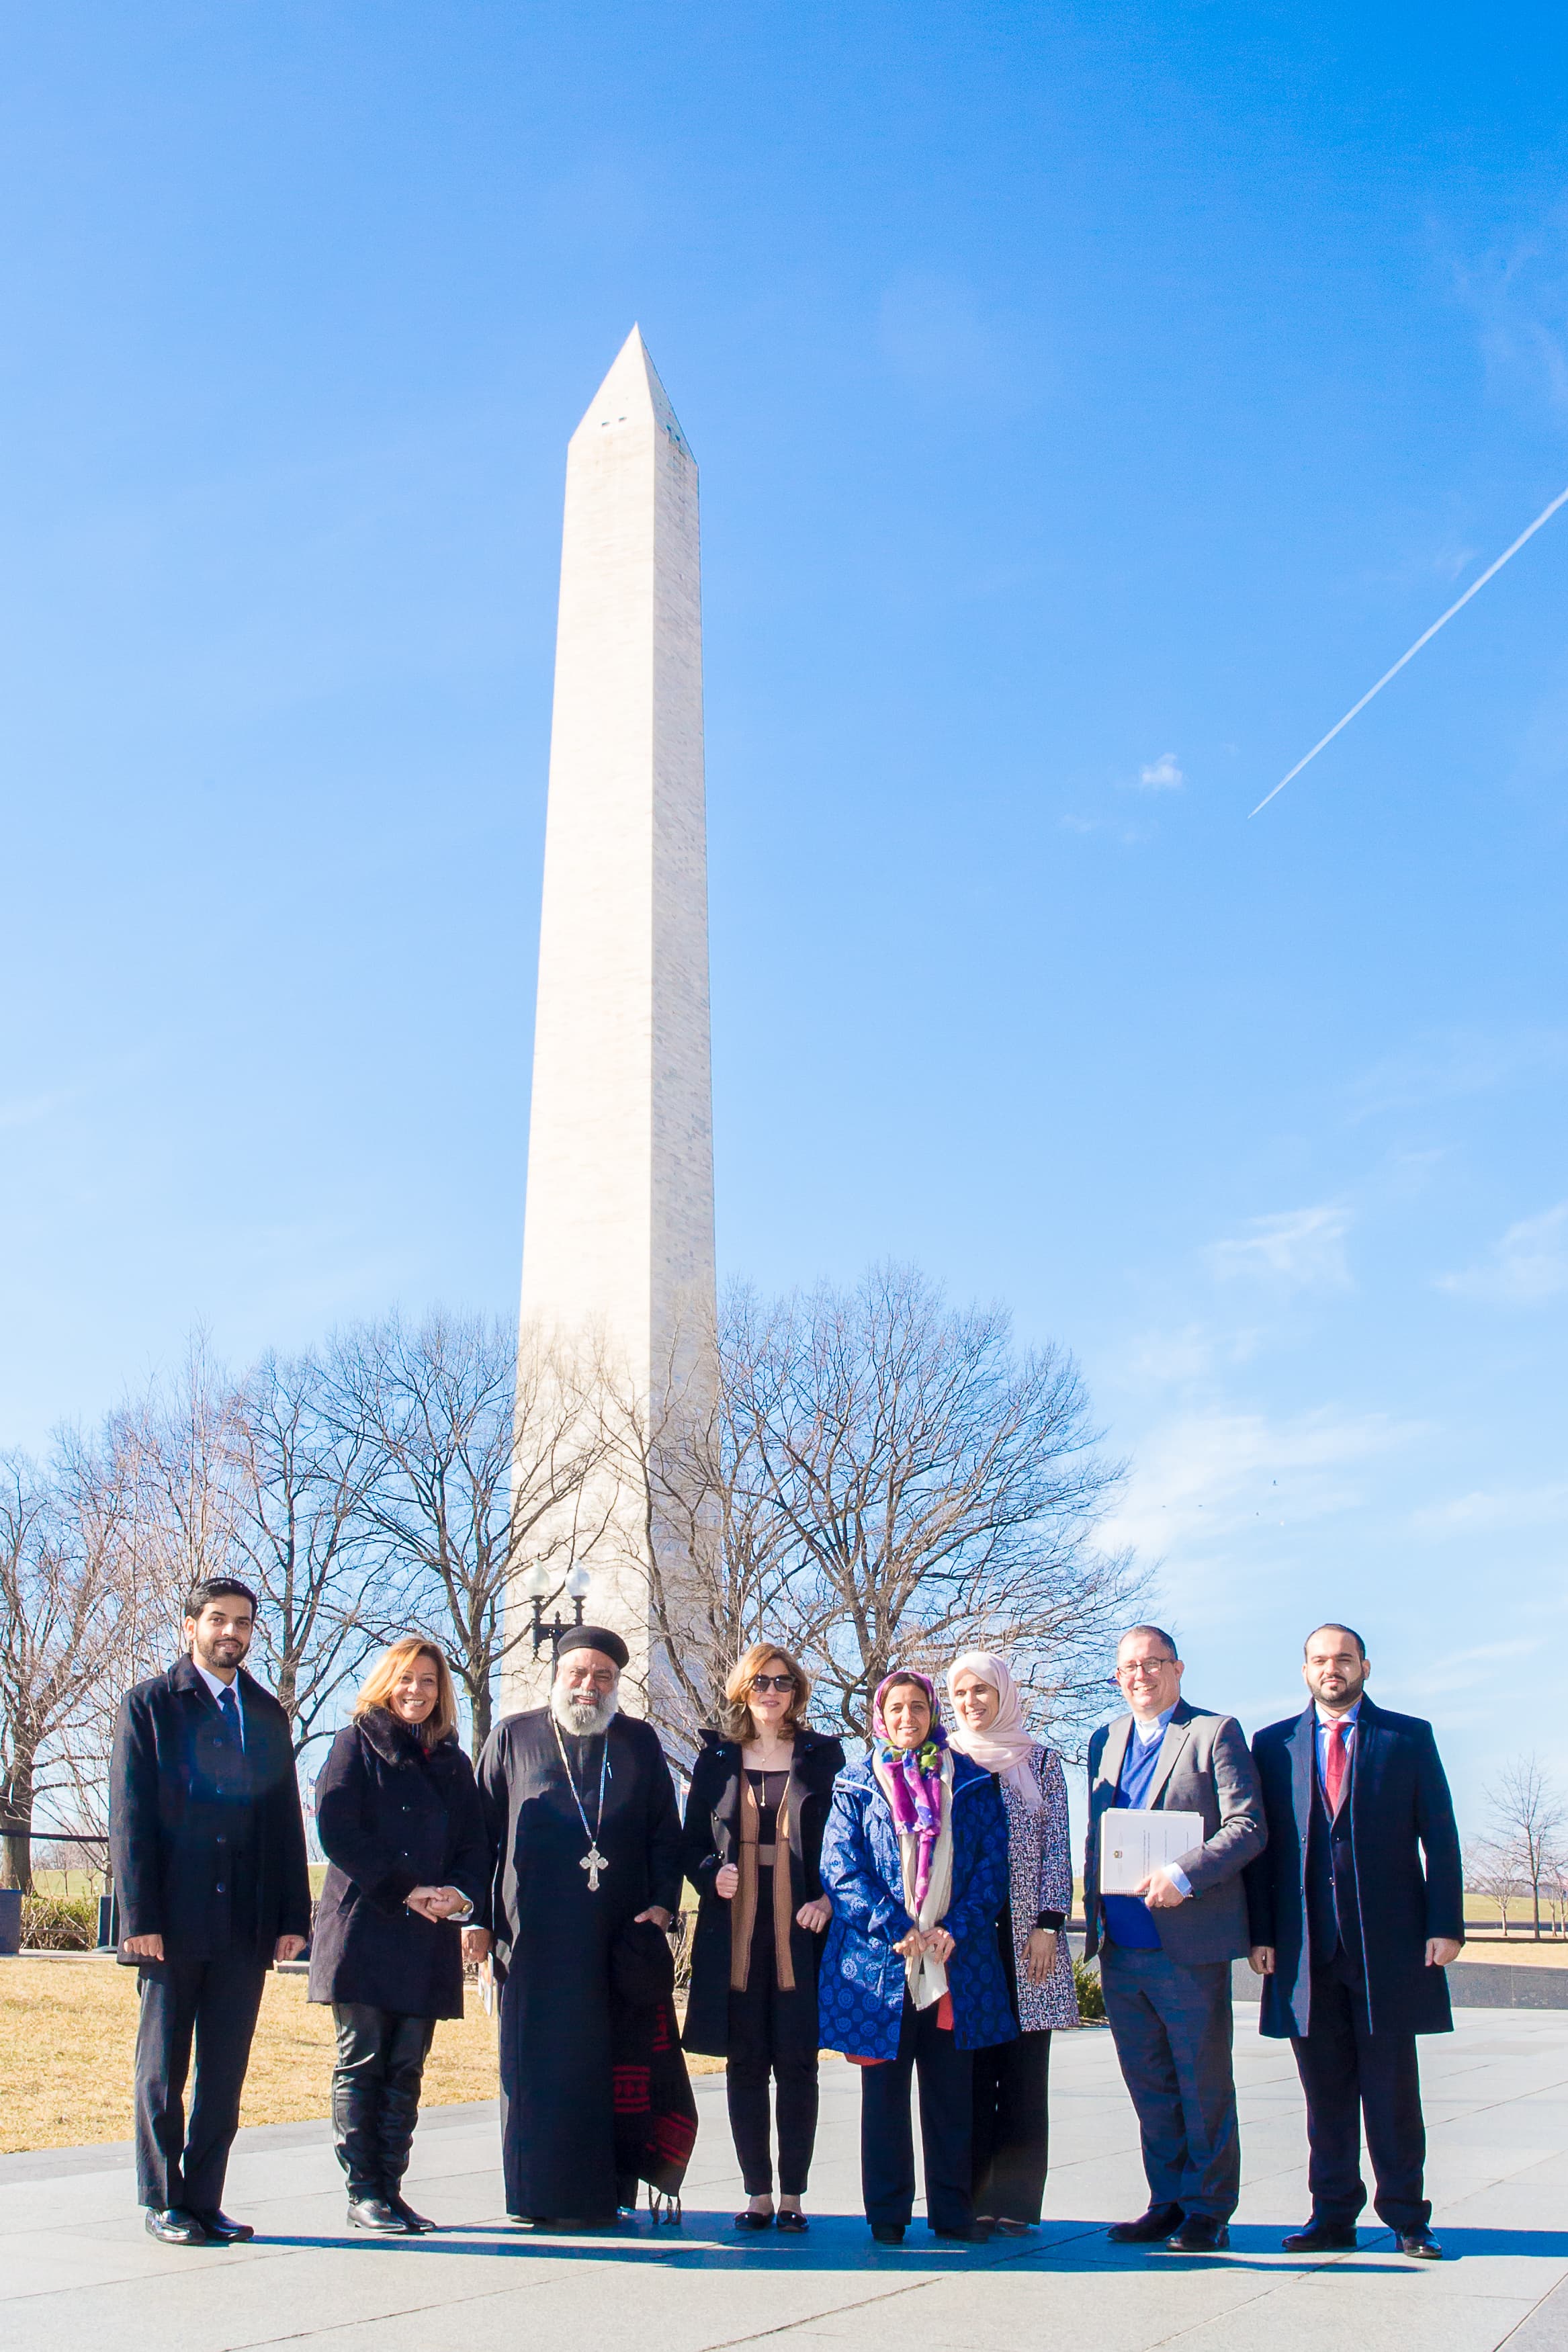
[[[61,1745],[115,1679],[127,1613],[125,1496],[78,1437],[49,1470],[0,1465],[0,1849],[7,1886],[33,1886],[33,1806],[80,1795]],[[40,1778],[40,1773],[49,1778]]]

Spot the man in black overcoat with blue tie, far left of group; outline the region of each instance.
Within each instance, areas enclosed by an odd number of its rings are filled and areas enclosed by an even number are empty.
[[[136,1964],[141,1992],[136,2185],[148,2234],[169,2246],[252,2237],[223,2213],[223,2173],[266,1971],[310,1933],[289,1717],[240,1672],[254,1628],[247,1585],[197,1585],[190,1653],[127,1691],[115,1724],[108,1844],[120,1959]]]

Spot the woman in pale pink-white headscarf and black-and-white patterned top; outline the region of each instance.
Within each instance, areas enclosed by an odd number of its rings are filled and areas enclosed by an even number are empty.
[[[947,1668],[959,1755],[994,1773],[1006,1811],[1009,1903],[997,1922],[1018,2039],[976,2051],[976,2223],[1023,2237],[1039,2223],[1048,2159],[1051,2032],[1079,2023],[1063,1926],[1072,1907],[1067,1778],[1023,1717],[1006,1658],[969,1649]]]

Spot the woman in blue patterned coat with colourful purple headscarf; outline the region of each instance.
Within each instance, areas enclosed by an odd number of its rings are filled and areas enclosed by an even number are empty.
[[[860,2190],[872,2237],[914,2211],[910,2077],[919,2072],[926,2220],[976,2237],[973,2051],[1018,2032],[997,1950],[1006,1813],[997,1783],[947,1745],[924,1675],[886,1675],[872,1752],[839,1773],[823,1835],[832,1926],[818,1978],[825,2049],[860,2077]]]

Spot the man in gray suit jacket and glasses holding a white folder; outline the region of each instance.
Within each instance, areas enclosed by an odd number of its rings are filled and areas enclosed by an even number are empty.
[[[1241,1870],[1267,1844],[1262,1792],[1232,1715],[1190,1708],[1182,1661],[1159,1625],[1117,1649],[1131,1715],[1088,1743],[1084,1957],[1100,1955],[1105,2016],[1138,2110],[1150,2211],[1119,2246],[1218,2253],[1241,2192],[1229,1966],[1248,1950]],[[1135,1896],[1100,1893],[1100,1820],[1114,1809],[1199,1813],[1201,1842]]]

